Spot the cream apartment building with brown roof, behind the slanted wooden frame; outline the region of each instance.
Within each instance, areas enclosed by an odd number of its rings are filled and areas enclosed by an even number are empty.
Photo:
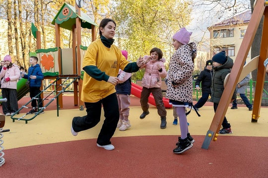
[[[236,59],[250,18],[251,10],[247,10],[208,28],[210,32],[210,59],[220,51],[225,51],[227,56],[233,60]],[[249,61],[250,57],[251,50],[246,60]]]

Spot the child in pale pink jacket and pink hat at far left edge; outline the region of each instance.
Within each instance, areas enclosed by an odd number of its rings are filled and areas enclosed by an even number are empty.
[[[0,72],[2,98],[6,98],[7,102],[3,102],[2,110],[5,116],[13,115],[18,111],[17,100],[17,80],[20,77],[19,66],[12,63],[11,57],[4,57],[4,65]]]

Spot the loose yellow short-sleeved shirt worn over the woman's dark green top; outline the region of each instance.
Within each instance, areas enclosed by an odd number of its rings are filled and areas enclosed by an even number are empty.
[[[82,67],[93,65],[106,75],[116,77],[119,69],[123,70],[128,63],[118,47],[111,45],[111,48],[107,48],[100,39],[97,39],[87,48]],[[95,103],[115,92],[113,84],[104,80],[98,81],[84,73],[81,92],[83,102]]]

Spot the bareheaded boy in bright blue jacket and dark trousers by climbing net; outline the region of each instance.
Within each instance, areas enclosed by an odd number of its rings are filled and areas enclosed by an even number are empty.
[[[29,59],[29,63],[32,65],[29,67],[28,69],[28,75],[27,74],[21,74],[22,78],[28,79],[30,81],[30,97],[33,98],[36,95],[38,95],[41,91],[40,91],[40,87],[41,87],[41,82],[44,79],[44,75],[43,72],[41,70],[40,65],[37,63],[38,62],[38,58],[35,56],[31,56]],[[39,106],[37,106],[37,101],[36,100],[32,100],[32,107],[33,109],[31,111],[29,111],[27,113],[27,115],[31,115],[31,114],[35,114],[38,112],[38,108],[43,108],[43,102],[41,99],[41,96],[38,96],[38,103]],[[42,110],[42,112],[40,114],[43,114],[44,110]]]

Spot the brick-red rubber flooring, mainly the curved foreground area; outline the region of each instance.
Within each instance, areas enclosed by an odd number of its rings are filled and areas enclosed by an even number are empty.
[[[78,108],[68,102],[64,97],[64,109]],[[139,106],[137,98],[131,102]],[[47,110],[55,108],[56,102]],[[96,139],[7,149],[0,178],[268,178],[268,137],[220,136],[205,150],[204,136],[193,135],[194,146],[174,154],[177,137],[114,137],[113,151]]]

